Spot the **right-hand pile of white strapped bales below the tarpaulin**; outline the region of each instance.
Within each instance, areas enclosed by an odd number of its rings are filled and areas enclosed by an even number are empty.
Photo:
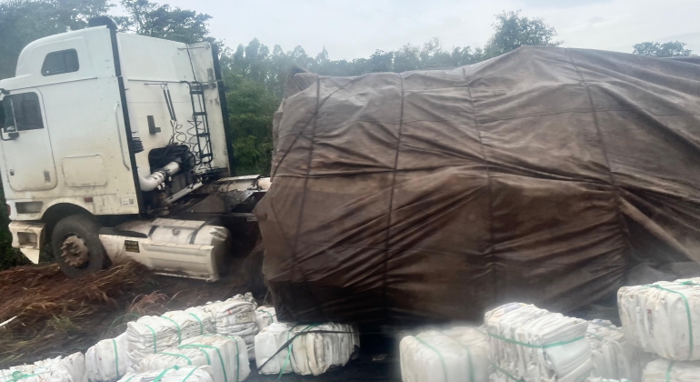
[[[511,303],[486,312],[482,327],[405,337],[403,381],[700,381],[700,277],[617,296],[622,327]]]

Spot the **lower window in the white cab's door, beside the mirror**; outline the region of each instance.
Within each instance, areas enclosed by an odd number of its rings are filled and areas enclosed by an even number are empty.
[[[5,131],[26,131],[44,128],[41,105],[36,93],[7,95],[3,99]]]

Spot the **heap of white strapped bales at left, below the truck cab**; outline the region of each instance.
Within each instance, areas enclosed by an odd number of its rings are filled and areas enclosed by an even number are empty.
[[[258,365],[266,364],[262,374],[318,376],[345,366],[358,347],[353,326],[278,323],[274,307],[257,307],[246,294],[139,317],[85,356],[78,352],[0,370],[0,382],[241,382],[250,376],[256,353]],[[279,362],[267,362],[273,356]]]

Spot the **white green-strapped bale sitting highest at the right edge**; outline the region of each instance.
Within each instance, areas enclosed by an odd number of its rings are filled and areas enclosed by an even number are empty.
[[[700,277],[623,286],[617,306],[635,347],[665,359],[700,359]]]

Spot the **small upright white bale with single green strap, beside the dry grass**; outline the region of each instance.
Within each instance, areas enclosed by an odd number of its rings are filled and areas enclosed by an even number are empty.
[[[125,376],[131,366],[126,344],[126,333],[123,333],[88,348],[85,353],[87,378],[92,382],[106,382]]]

